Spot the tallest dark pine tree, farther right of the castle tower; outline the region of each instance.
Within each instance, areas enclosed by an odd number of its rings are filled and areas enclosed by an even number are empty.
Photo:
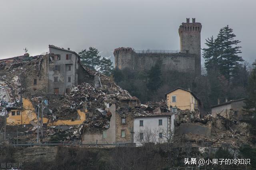
[[[228,84],[234,76],[236,66],[240,65],[239,62],[244,61],[242,57],[238,56],[241,53],[240,46],[237,46],[241,41],[235,40],[236,35],[233,33],[228,25],[220,29],[216,43],[219,50],[219,68],[222,75],[224,75]]]

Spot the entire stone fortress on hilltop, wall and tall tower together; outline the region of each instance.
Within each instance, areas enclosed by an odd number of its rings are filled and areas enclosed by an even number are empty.
[[[156,63],[161,64],[162,71],[176,70],[201,74],[201,33],[202,25],[195,18],[187,18],[178,29],[180,50],[134,50],[120,47],[114,50],[115,68],[120,70],[149,70]]]

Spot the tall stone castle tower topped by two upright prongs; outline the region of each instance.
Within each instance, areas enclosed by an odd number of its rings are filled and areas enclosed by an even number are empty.
[[[196,54],[195,73],[197,75],[201,74],[201,29],[202,25],[196,22],[196,18],[192,18],[192,23],[187,18],[187,22],[183,22],[179,27],[180,50]]]

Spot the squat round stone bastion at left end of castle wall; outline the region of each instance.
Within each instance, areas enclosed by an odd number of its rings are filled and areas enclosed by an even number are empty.
[[[122,70],[126,67],[133,70],[134,64],[133,64],[133,49],[128,47],[120,47],[118,49],[114,50],[114,56],[115,56],[115,68],[118,68],[119,70]]]

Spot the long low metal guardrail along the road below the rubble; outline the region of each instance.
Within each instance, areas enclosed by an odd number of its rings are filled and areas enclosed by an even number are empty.
[[[135,143],[82,143],[82,142],[74,142],[69,143],[65,141],[48,141],[44,143],[29,143],[29,142],[14,142],[12,144],[13,147],[34,147],[34,146],[40,146],[40,147],[56,147],[56,146],[79,146],[79,147],[85,147],[85,146],[109,146],[109,147],[136,147]]]

